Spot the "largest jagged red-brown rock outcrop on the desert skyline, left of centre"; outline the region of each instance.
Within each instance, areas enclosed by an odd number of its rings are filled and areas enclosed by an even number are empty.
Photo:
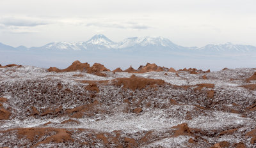
[[[81,63],[80,61],[74,61],[68,68],[60,70],[56,67],[50,67],[48,69],[49,72],[70,72],[70,71],[86,71],[87,73],[92,73],[94,75],[99,75],[102,77],[105,77],[106,75],[104,73],[100,73],[101,71],[110,71],[107,69],[104,65],[99,63],[94,63],[92,67],[90,67],[90,64],[88,63]]]

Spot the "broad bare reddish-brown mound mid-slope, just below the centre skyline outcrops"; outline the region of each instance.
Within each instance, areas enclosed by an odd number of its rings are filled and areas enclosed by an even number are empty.
[[[152,79],[152,78],[142,78],[132,75],[130,78],[115,78],[113,84],[117,86],[122,86],[124,89],[144,89],[147,86],[156,87],[156,85],[165,84],[164,80]]]

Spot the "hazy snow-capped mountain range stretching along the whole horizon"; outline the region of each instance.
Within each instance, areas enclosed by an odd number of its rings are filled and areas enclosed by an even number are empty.
[[[114,42],[109,40],[103,34],[96,34],[88,41],[79,41],[70,43],[68,41],[52,42],[42,47],[27,48],[24,46],[11,47],[0,43],[0,50],[55,50],[55,51],[72,51],[72,50],[173,50],[173,51],[196,51],[196,52],[256,52],[256,47],[251,45],[234,45],[209,44],[204,47],[182,47],[163,37],[133,37],[125,38],[123,41]]]

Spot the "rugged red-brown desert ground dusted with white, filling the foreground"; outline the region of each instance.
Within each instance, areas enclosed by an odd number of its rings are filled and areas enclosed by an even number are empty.
[[[256,69],[0,65],[0,147],[256,147]]]

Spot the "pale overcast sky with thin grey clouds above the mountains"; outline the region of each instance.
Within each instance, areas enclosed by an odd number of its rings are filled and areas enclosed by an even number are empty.
[[[17,47],[163,36],[187,47],[256,46],[255,0],[0,0],[0,42]]]

